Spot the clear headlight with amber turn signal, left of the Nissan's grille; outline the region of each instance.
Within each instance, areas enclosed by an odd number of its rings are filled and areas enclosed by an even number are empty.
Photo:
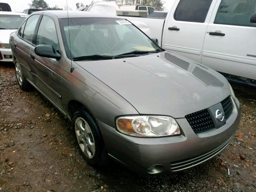
[[[116,119],[119,132],[136,137],[161,137],[180,134],[174,118],[168,116],[124,116]]]

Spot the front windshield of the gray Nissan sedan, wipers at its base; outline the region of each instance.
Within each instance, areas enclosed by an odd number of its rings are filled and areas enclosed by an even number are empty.
[[[118,18],[70,18],[69,30],[68,19],[62,19],[61,22],[65,36],[64,42],[67,43],[67,54],[70,52],[71,43],[72,59],[86,56],[97,58],[95,56],[114,57],[122,55],[125,57],[125,54],[131,56],[131,54],[137,55],[138,52],[149,54],[162,51],[160,47],[127,20]],[[100,60],[107,58],[101,57]]]

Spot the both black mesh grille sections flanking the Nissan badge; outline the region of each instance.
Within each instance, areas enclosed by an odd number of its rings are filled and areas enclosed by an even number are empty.
[[[227,120],[233,112],[233,105],[230,96],[224,99],[221,104]],[[207,109],[188,114],[185,118],[195,133],[201,133],[215,128],[213,120]]]

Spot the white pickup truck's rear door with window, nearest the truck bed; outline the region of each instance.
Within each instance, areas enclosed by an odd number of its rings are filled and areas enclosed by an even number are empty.
[[[162,47],[201,62],[206,29],[216,0],[176,0],[166,21]]]

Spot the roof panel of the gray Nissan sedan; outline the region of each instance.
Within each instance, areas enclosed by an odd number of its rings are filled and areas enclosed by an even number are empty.
[[[33,14],[54,14],[58,18],[84,18],[84,17],[98,17],[98,18],[120,18],[116,15],[103,14],[103,13],[95,13],[95,12],[87,12],[87,11],[66,11],[66,10],[48,10],[48,11],[38,11]]]

